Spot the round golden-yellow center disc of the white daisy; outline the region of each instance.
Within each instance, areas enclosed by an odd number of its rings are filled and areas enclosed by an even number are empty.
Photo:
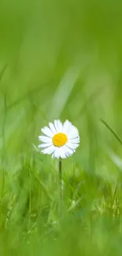
[[[65,135],[65,133],[59,132],[54,135],[53,137],[53,143],[55,147],[61,147],[64,146],[65,143],[67,143],[68,137]]]

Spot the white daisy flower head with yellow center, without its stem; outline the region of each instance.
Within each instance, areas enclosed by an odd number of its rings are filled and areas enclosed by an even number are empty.
[[[43,154],[52,154],[52,158],[68,158],[79,147],[79,132],[68,120],[64,124],[55,120],[42,128],[42,132],[39,140],[43,143],[39,147]]]

